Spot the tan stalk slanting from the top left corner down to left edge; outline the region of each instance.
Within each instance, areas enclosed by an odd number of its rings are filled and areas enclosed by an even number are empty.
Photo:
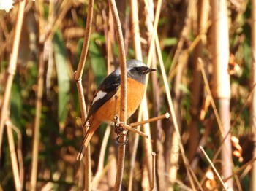
[[[17,22],[15,26],[15,36],[14,41],[12,45],[12,53],[10,56],[10,63],[7,70],[7,83],[4,90],[4,98],[3,102],[1,104],[1,114],[0,114],[0,151],[1,151],[1,144],[3,141],[3,133],[4,133],[4,122],[7,120],[7,114],[8,112],[8,106],[10,103],[10,93],[12,89],[12,82],[13,77],[17,68],[17,58],[18,58],[18,48],[20,44],[20,34],[21,34],[21,28],[23,24],[23,17],[24,17],[24,11],[26,6],[26,0],[20,1],[19,8],[18,8],[18,14],[17,14]],[[0,152],[0,158],[1,158],[1,152]]]

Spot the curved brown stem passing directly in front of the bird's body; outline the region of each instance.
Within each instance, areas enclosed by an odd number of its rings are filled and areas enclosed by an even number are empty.
[[[118,52],[120,57],[120,71],[121,71],[121,103],[120,103],[120,121],[126,124],[127,122],[127,67],[124,50],[124,38],[121,31],[121,23],[118,17],[116,2],[109,0],[110,10],[113,15],[113,21],[116,31],[116,39],[118,42]],[[116,184],[114,190],[121,190],[121,180],[124,175],[124,158],[125,158],[125,142],[127,141],[127,131],[124,130],[122,136],[118,138],[118,161],[116,172]]]

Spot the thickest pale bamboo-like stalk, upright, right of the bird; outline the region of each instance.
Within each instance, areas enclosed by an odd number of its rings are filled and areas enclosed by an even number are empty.
[[[218,103],[218,112],[223,126],[222,137],[228,134],[222,148],[222,175],[230,176],[232,171],[232,148],[230,142],[230,75],[228,74],[229,36],[227,21],[227,1],[211,0],[212,20],[212,94]],[[228,187],[233,189],[233,179]]]

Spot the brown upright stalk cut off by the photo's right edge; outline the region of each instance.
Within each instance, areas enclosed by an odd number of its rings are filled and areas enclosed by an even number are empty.
[[[251,31],[252,31],[252,69],[251,69],[251,86],[254,86],[256,83],[256,0],[252,0],[251,5]],[[253,135],[253,141],[256,142],[256,92],[252,90],[252,104],[250,108],[250,126]],[[256,158],[256,147],[253,149],[253,158]],[[256,163],[252,165],[252,175],[251,175],[251,190],[256,190]]]

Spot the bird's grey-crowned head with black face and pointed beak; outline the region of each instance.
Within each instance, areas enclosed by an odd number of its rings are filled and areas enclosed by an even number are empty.
[[[127,61],[127,77],[145,84],[146,74],[156,69],[150,69],[145,63],[138,60]]]

